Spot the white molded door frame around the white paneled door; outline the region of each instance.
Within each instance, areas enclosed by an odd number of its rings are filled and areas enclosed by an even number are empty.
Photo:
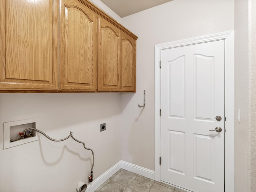
[[[155,180],[160,181],[159,164],[160,138],[160,107],[161,107],[161,50],[205,43],[209,41],[225,40],[225,192],[234,192],[234,31],[226,31],[212,35],[205,35],[172,41],[155,45]],[[227,150],[228,149],[228,150]]]

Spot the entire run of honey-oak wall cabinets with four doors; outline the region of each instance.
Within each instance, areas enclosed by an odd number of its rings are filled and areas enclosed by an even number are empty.
[[[88,0],[1,0],[0,92],[135,92],[137,38]]]

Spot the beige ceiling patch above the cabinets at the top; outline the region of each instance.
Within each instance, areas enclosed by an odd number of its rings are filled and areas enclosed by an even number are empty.
[[[121,18],[172,0],[101,0]]]

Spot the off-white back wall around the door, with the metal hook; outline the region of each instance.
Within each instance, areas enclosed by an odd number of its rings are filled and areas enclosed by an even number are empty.
[[[154,45],[233,30],[234,0],[174,0],[122,24],[138,36],[137,92],[121,95],[122,160],[154,170]]]

